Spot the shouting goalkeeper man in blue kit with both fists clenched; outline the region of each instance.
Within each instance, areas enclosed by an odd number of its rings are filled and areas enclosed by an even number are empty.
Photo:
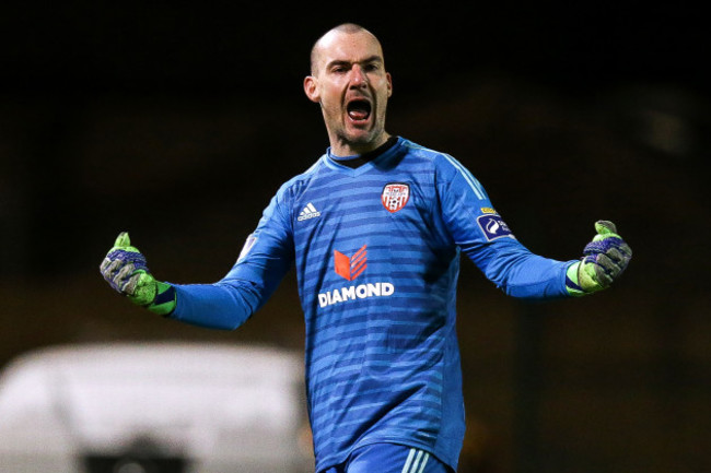
[[[631,250],[609,222],[584,258],[531,253],[452,156],[385,131],[393,82],[377,38],[343,24],[312,50],[306,96],[330,147],[281,186],[214,284],[156,281],[121,233],[101,271],[149,310],[235,329],[295,264],[316,471],[455,471],[464,438],[455,289],[459,253],[515,297],[607,287]]]

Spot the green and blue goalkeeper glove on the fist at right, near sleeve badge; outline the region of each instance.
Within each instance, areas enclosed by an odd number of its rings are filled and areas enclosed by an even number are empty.
[[[617,234],[613,222],[595,223],[597,235],[583,250],[584,257],[566,273],[566,288],[572,296],[583,296],[608,287],[627,268],[632,249]]]

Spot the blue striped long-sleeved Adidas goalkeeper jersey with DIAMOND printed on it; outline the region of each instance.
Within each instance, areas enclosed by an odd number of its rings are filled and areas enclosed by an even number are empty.
[[[518,243],[454,157],[403,138],[357,168],[327,152],[281,186],[224,279],[175,285],[172,317],[234,329],[295,265],[316,471],[374,442],[423,449],[456,469],[462,251],[506,294],[568,296],[571,262]]]

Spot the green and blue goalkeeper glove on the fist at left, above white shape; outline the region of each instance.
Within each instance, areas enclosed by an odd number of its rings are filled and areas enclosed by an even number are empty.
[[[145,265],[145,257],[131,246],[128,233],[118,235],[100,270],[114,291],[133,304],[161,316],[167,316],[175,309],[175,287],[153,277]]]

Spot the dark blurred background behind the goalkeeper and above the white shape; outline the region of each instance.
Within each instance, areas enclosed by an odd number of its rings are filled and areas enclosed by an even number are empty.
[[[313,42],[353,21],[394,78],[387,129],[463,162],[533,251],[613,220],[613,288],[524,304],[468,261],[462,472],[711,471],[708,25],[646,2],[2,7],[0,367],[42,346],[197,340],[301,350],[293,273],[235,332],[152,317],[98,264],[120,230],[159,279],[213,282],[326,149]]]

